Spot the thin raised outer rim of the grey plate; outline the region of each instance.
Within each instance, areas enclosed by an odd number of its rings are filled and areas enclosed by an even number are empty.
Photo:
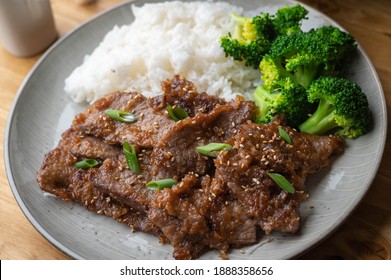
[[[149,0],[146,0],[147,2],[151,2]],[[170,0],[171,1],[171,0]],[[174,0],[175,1],[175,0]],[[226,2],[224,0],[219,0],[220,1],[223,1],[223,2]],[[268,2],[271,2],[271,0],[266,0]],[[328,15],[324,14],[323,12],[315,9],[315,8],[312,8],[311,6],[307,5],[307,4],[304,4],[304,3],[301,3],[301,2],[298,2],[298,1],[293,1],[293,0],[284,0],[285,2],[291,2],[293,4],[300,4],[302,5],[303,7],[305,7],[306,9],[308,9],[310,12],[316,12],[318,13],[319,15],[321,15],[325,20],[327,20],[328,22],[330,22],[330,24],[344,30],[347,32],[347,30],[345,28],[343,28],[339,23],[337,23],[335,20],[333,20],[332,18],[330,18]],[[63,37],[59,38],[51,47],[49,47],[42,55],[41,57],[37,60],[37,62],[34,64],[34,66],[30,69],[30,71],[28,72],[28,74],[26,75],[26,77],[23,79],[22,83],[20,84],[17,92],[16,92],[16,95],[14,96],[13,98],[13,101],[12,101],[12,105],[9,109],[9,113],[8,113],[8,116],[7,116],[7,121],[6,121],[6,126],[5,126],[5,130],[4,130],[4,141],[3,141],[3,151],[4,151],[4,165],[5,165],[5,170],[6,170],[6,176],[7,176],[7,179],[8,179],[8,183],[10,185],[10,188],[11,188],[11,191],[13,193],[13,196],[18,204],[18,206],[21,208],[23,214],[25,215],[25,217],[27,218],[27,220],[30,222],[30,224],[33,225],[33,227],[46,239],[48,240],[52,245],[54,245],[57,249],[59,249],[61,252],[63,252],[64,254],[70,256],[71,258],[74,258],[74,259],[85,259],[84,257],[80,256],[79,254],[77,254],[76,252],[74,252],[73,250],[69,249],[68,247],[66,247],[64,244],[62,244],[60,241],[58,241],[54,236],[52,236],[48,231],[46,231],[41,225],[40,223],[34,218],[34,216],[30,213],[30,211],[27,209],[26,205],[25,205],[25,202],[24,200],[21,198],[20,194],[19,194],[19,191],[18,191],[18,187],[16,186],[16,182],[15,182],[15,179],[14,179],[14,174],[13,174],[13,171],[12,171],[12,168],[11,168],[11,163],[10,163],[10,143],[9,143],[9,139],[10,139],[10,133],[11,133],[11,128],[12,128],[12,123],[13,123],[13,120],[14,120],[14,114],[15,114],[15,109],[18,105],[18,102],[20,100],[20,97],[23,93],[23,91],[25,90],[25,87],[26,87],[26,84],[29,82],[29,80],[31,79],[31,77],[34,75],[35,71],[40,67],[40,65],[48,58],[48,56],[59,46],[61,45],[65,40],[67,40],[70,36],[72,36],[73,34],[75,34],[78,30],[84,28],[85,26],[89,25],[89,24],[92,24],[97,18],[100,18],[106,14],[109,14],[111,12],[113,12],[114,10],[117,10],[117,9],[121,9],[123,8],[124,6],[127,6],[129,5],[130,3],[137,3],[139,2],[138,0],[127,0],[123,3],[120,3],[120,4],[117,4],[107,10],[104,10],[96,15],[94,15],[93,17],[91,17],[90,19],[82,22],[81,24],[77,25],[75,28],[73,28],[71,31],[67,32]],[[162,1],[154,1],[155,2],[164,2],[164,0]],[[217,2],[217,1],[213,1],[213,2]],[[357,41],[357,40],[356,40]],[[359,195],[357,196],[357,202],[356,204],[354,205],[354,207],[352,207],[350,209],[350,211],[347,211],[345,212],[341,218],[338,220],[338,222],[336,223],[336,225],[334,225],[331,230],[327,231],[327,232],[324,232],[323,234],[320,235],[320,237],[317,239],[317,240],[314,240],[312,242],[309,242],[309,244],[306,244],[305,245],[305,249],[302,250],[301,252],[299,253],[291,253],[289,258],[292,259],[292,258],[297,258],[303,254],[305,254],[306,252],[308,252],[309,250],[311,250],[312,248],[314,248],[316,245],[320,244],[321,242],[323,242],[327,237],[329,237],[330,235],[332,235],[334,232],[336,232],[344,223],[345,221],[351,216],[353,215],[353,213],[355,212],[355,210],[358,208],[358,206],[361,204],[362,200],[364,199],[364,197],[366,196],[366,194],[368,193],[369,189],[371,188],[372,184],[373,184],[373,181],[376,177],[376,175],[378,174],[378,170],[379,170],[379,167],[381,165],[381,162],[382,162],[382,158],[384,157],[384,149],[385,149],[385,144],[386,144],[386,138],[387,138],[387,106],[386,106],[386,101],[385,101],[385,96],[384,96],[384,90],[383,90],[383,87],[382,87],[382,84],[381,84],[381,81],[379,79],[379,76],[378,76],[378,73],[376,71],[376,68],[374,67],[372,61],[370,60],[368,54],[366,53],[366,51],[364,50],[364,48],[360,45],[359,41],[357,41],[357,44],[358,44],[358,48],[360,50],[360,52],[362,53],[363,55],[363,58],[365,59],[365,62],[368,64],[371,72],[373,73],[373,77],[374,77],[374,80],[376,82],[376,85],[377,85],[377,88],[379,89],[379,95],[380,95],[380,100],[381,100],[381,113],[382,113],[382,125],[381,125],[381,141],[380,141],[380,144],[379,144],[379,149],[377,151],[377,159],[376,159],[376,163],[373,165],[373,170],[375,170],[376,172],[372,172],[369,180],[368,180],[368,185],[366,186],[365,189],[363,189],[364,191]]]

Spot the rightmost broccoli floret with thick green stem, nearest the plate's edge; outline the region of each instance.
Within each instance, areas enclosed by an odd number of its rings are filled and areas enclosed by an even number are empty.
[[[370,111],[367,96],[360,86],[345,78],[322,76],[307,91],[308,100],[317,103],[316,111],[299,125],[310,134],[335,133],[357,138],[368,132]]]

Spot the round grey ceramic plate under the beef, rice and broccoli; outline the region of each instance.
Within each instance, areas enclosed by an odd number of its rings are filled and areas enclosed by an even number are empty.
[[[147,1],[138,1],[138,5]],[[287,1],[230,1],[245,10],[275,11]],[[305,28],[334,24],[310,8]],[[35,175],[43,156],[57,144],[74,115],[85,109],[65,95],[64,79],[114,25],[133,20],[130,4],[120,5],[58,41],[35,65],[20,87],[5,131],[8,179],[21,209],[51,243],[76,259],[170,259],[172,247],[141,232],[131,233],[113,219],[88,212],[72,202],[45,196]],[[232,259],[289,259],[333,232],[358,205],[377,172],[386,135],[386,107],[377,74],[364,51],[349,70],[367,93],[374,117],[372,131],[354,141],[332,167],[309,178],[310,199],[302,205],[303,223],[296,235],[272,234],[257,245],[233,250]],[[202,259],[217,259],[210,251]]]

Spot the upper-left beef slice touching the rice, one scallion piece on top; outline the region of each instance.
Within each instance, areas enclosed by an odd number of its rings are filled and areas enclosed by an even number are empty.
[[[105,110],[131,112],[137,121],[126,123],[114,120]],[[128,141],[140,147],[152,148],[175,122],[149,105],[149,100],[138,93],[114,92],[99,99],[85,113],[73,121],[72,128],[85,134],[103,139],[109,144],[122,144]]]

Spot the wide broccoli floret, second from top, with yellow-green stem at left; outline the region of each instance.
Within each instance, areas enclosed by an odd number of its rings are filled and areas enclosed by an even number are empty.
[[[267,89],[285,77],[308,88],[320,75],[339,74],[356,48],[350,34],[332,26],[278,36],[260,63],[262,80]]]

